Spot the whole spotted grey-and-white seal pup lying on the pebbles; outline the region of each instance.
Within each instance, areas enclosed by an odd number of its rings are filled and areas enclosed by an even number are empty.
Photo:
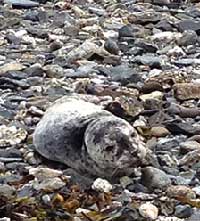
[[[35,150],[80,174],[114,178],[140,165],[144,143],[124,119],[74,97],[57,100],[33,134]]]

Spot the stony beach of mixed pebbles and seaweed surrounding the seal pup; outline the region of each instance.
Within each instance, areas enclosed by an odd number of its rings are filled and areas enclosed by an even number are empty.
[[[0,220],[200,220],[200,3],[0,4]],[[36,124],[72,93],[127,119],[146,166],[90,183],[38,156]]]

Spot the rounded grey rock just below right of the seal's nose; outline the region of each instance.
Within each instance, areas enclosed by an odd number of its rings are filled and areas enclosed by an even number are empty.
[[[171,184],[169,176],[164,171],[154,167],[142,169],[141,181],[150,190],[164,189]]]

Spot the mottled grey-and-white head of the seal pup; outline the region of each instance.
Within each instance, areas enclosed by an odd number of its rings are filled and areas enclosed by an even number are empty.
[[[85,132],[85,146],[90,158],[102,169],[137,166],[146,155],[137,131],[115,116],[93,120]]]

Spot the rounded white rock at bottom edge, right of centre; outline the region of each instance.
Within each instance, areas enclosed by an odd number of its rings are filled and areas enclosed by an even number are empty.
[[[139,207],[139,213],[145,218],[155,220],[158,217],[158,208],[152,203],[147,202]]]

